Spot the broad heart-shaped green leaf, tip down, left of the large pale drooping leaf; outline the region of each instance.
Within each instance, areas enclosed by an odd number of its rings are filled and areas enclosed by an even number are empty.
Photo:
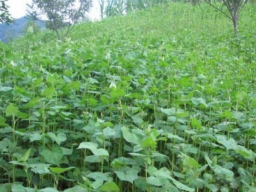
[[[42,152],[40,152],[40,155],[44,157],[47,163],[52,163],[60,166],[60,161],[63,157],[63,151],[59,145],[54,145],[52,147],[52,150],[42,150]]]

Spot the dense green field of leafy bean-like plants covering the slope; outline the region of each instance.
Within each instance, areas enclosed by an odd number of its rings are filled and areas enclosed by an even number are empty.
[[[256,191],[256,6],[171,3],[0,44],[0,192]]]

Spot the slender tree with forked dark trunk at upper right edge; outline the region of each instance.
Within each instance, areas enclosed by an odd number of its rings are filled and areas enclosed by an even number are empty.
[[[221,0],[221,2],[227,8],[228,12],[225,12],[221,10],[221,8],[218,8],[218,6],[213,4],[211,0],[205,0],[205,2],[216,8],[216,10],[223,13],[226,17],[228,17],[228,19],[232,20],[234,32],[237,36],[239,13],[243,9],[244,5],[248,2],[248,0]]]

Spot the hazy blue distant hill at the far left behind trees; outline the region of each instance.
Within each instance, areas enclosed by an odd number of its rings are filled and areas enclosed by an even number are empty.
[[[0,40],[7,43],[9,40],[22,35],[28,21],[29,20],[26,17],[21,17],[20,19],[15,19],[15,22],[12,22],[10,25],[4,23],[0,24]],[[36,24],[41,28],[45,28],[43,21],[38,20],[36,21]]]

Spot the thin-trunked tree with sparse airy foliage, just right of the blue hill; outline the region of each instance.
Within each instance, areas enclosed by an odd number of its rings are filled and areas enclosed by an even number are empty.
[[[58,40],[63,40],[92,8],[92,0],[33,0],[33,3],[47,16],[47,26],[56,32]]]

